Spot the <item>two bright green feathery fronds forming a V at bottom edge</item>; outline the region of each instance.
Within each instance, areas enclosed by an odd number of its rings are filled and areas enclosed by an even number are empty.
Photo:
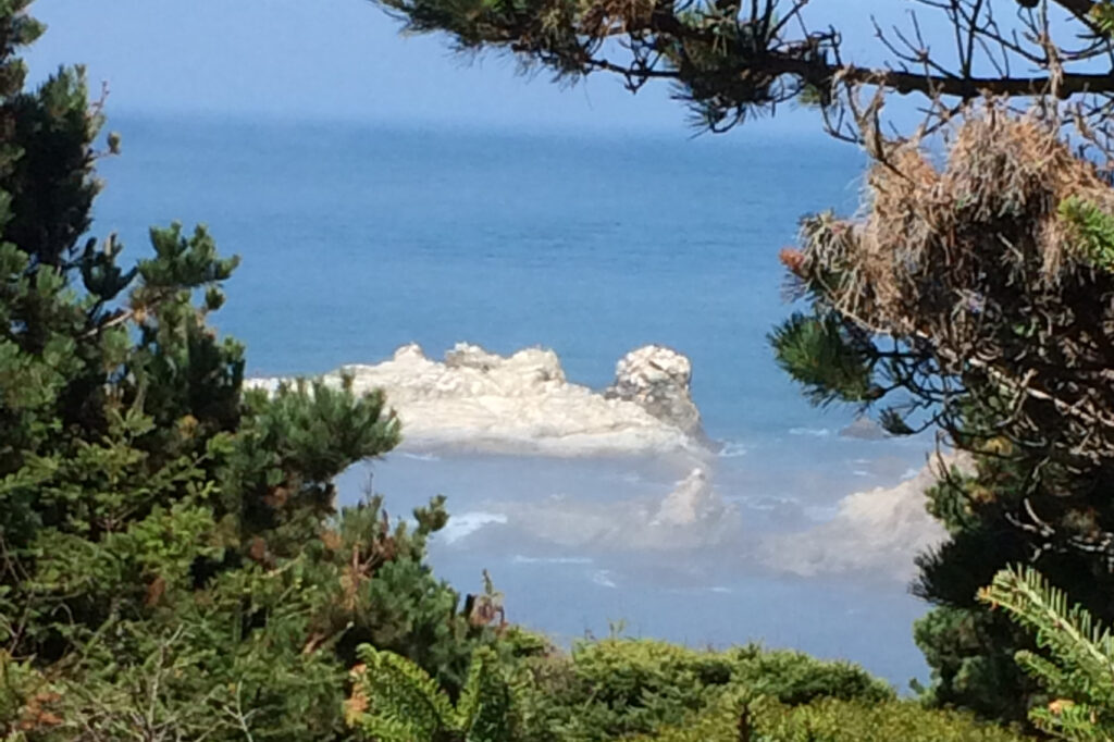
[[[421,667],[371,645],[358,650],[349,724],[378,742],[506,742],[511,735],[511,694],[495,653],[472,656],[456,706]]]

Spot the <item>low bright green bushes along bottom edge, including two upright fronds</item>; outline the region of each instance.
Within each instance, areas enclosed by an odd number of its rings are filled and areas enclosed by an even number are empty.
[[[961,713],[899,701],[852,666],[753,646],[713,653],[608,640],[568,656],[510,664],[498,664],[485,648],[456,705],[413,663],[370,647],[361,657],[350,723],[378,742],[1027,739]]]

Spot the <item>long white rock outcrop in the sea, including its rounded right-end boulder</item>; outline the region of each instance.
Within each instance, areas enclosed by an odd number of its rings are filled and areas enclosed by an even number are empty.
[[[389,361],[342,367],[323,380],[340,385],[346,374],[356,392],[383,389],[402,422],[403,448],[702,456],[693,435],[700,413],[688,398],[688,359],[664,350],[651,346],[627,357],[638,360],[616,387],[636,391],[623,398],[569,383],[551,350],[501,357],[466,343],[446,353],[444,362],[428,359],[417,344],[403,345]],[[274,390],[283,381],[246,383]],[[666,414],[665,409],[682,412]]]

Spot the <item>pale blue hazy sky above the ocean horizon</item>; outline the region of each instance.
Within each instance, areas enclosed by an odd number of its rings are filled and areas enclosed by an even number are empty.
[[[814,0],[869,37],[868,12],[898,0]],[[831,8],[831,10],[825,10]],[[665,86],[637,97],[610,77],[571,89],[511,60],[469,62],[443,38],[401,37],[368,0],[38,0],[48,32],[32,75],[84,62],[111,89],[109,113],[451,123],[510,128],[673,129],[685,111]],[[854,39],[862,45],[864,41]],[[853,50],[852,50],[853,51]],[[814,127],[811,115],[760,128]]]

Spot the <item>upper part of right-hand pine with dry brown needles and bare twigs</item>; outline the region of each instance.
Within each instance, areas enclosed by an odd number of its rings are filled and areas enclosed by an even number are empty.
[[[797,274],[954,441],[1114,459],[1114,276],[1059,212],[1114,214],[1114,189],[1037,113],[968,110],[948,145],[939,165],[920,141],[879,145],[862,218],[812,218]]]

